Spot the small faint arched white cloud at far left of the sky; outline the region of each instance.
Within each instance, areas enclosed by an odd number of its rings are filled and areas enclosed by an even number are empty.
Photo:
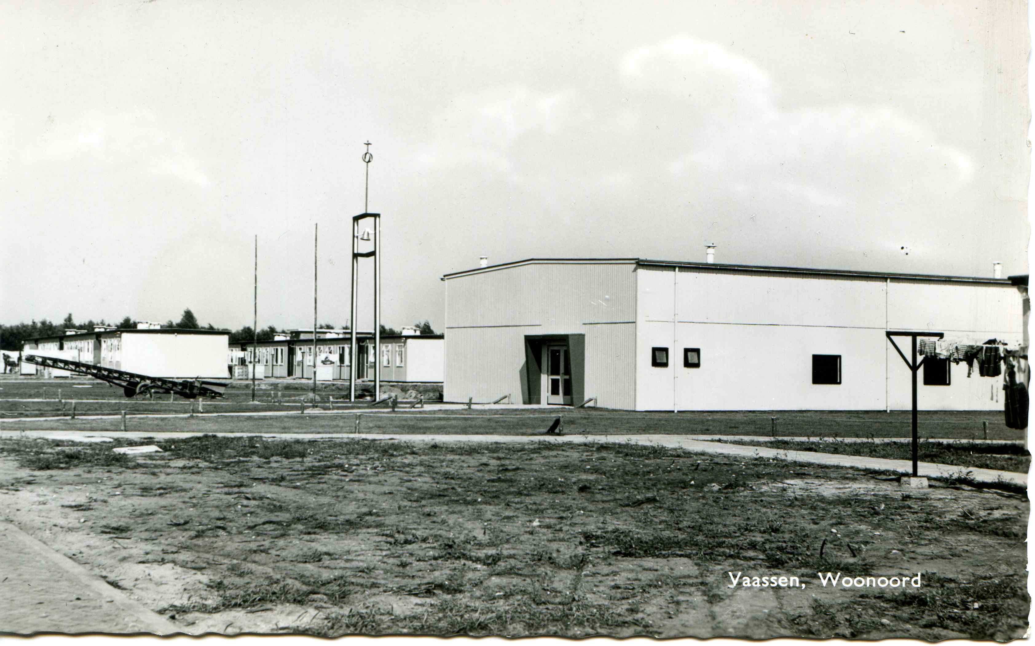
[[[159,127],[154,114],[146,110],[90,112],[72,121],[52,122],[22,152],[22,162],[30,165],[79,158],[143,168],[199,186],[209,183],[183,143]]]

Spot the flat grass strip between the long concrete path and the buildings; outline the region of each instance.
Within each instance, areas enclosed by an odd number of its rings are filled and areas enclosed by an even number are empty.
[[[155,400],[126,399],[118,388],[109,387],[96,380],[0,380],[0,424],[4,420],[31,417],[55,417],[71,414],[71,400],[76,402],[77,419],[19,421],[7,429],[118,431],[120,419],[89,420],[91,415],[176,414],[182,417],[154,419],[130,418],[128,428],[135,431],[183,431],[209,433],[216,431],[245,433],[342,433],[355,428],[355,415],[289,415],[274,417],[248,416],[244,418],[206,418],[210,413],[234,412],[291,412],[300,410],[306,399],[312,406],[312,393],[304,390],[284,390],[298,383],[268,382],[261,384],[258,404],[250,402],[248,389],[231,389],[225,400],[207,400],[201,404],[203,414],[193,418],[186,415],[191,402],[180,398],[169,401],[169,395]],[[75,387],[89,386],[89,387]],[[58,390],[62,401],[58,401]],[[331,410],[350,410],[357,413],[371,411],[364,404],[347,405],[341,391],[318,391],[317,406]],[[100,401],[85,401],[100,400]],[[197,410],[197,408],[195,409]],[[676,434],[676,435],[751,435],[796,437],[909,437],[910,413],[894,411],[750,411],[750,412],[631,412],[604,409],[489,409],[436,411],[434,415],[400,407],[393,416],[383,413],[364,414],[362,431],[365,433],[459,433],[527,435],[545,430],[553,418],[562,415],[568,434]],[[773,421],[775,417],[775,423]],[[924,411],[920,415],[920,436],[925,438],[979,439],[984,437],[983,422],[987,422],[988,439],[1022,440],[1024,432],[1007,429],[999,411],[946,412]]]

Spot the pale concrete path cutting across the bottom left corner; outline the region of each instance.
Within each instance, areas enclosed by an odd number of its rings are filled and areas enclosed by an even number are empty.
[[[5,522],[0,522],[0,634],[183,633]]]

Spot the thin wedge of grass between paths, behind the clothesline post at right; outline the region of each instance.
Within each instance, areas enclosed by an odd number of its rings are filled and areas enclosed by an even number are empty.
[[[786,450],[838,453],[841,456],[865,456],[889,460],[912,460],[913,445],[909,442],[842,442],[829,440],[822,442],[796,442],[794,440],[732,440],[731,444],[768,446]],[[1028,473],[1031,453],[1024,444],[987,444],[982,442],[918,442],[917,460],[938,464],[958,465],[976,469],[996,469]]]

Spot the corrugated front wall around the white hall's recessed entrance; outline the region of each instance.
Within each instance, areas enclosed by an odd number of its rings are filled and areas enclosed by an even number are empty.
[[[612,333],[590,328],[611,326],[585,324],[632,323],[634,266],[529,264],[447,280],[445,400],[485,402],[510,393],[529,402],[526,335],[586,334],[586,394],[627,387],[628,371],[612,370],[590,351],[591,335]]]

